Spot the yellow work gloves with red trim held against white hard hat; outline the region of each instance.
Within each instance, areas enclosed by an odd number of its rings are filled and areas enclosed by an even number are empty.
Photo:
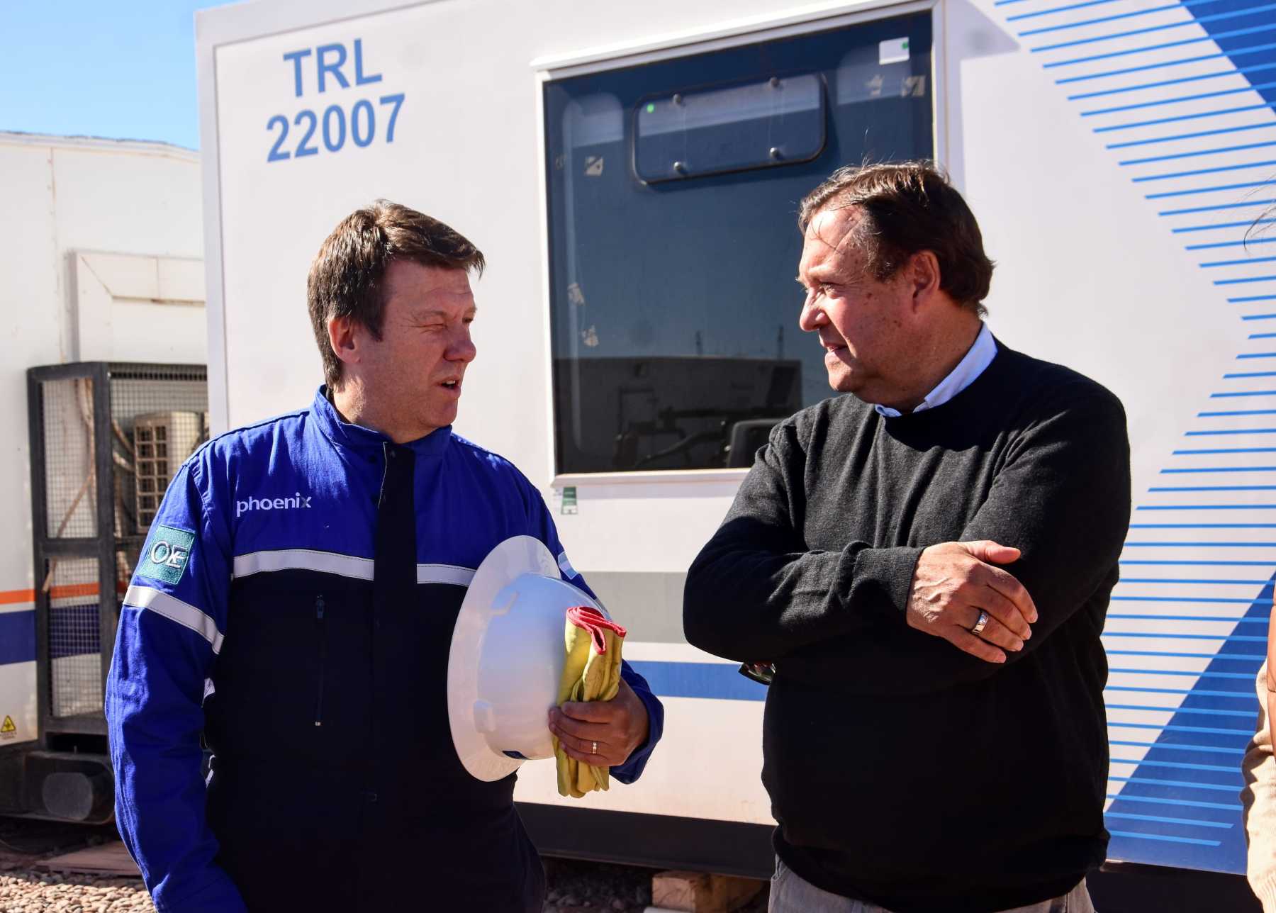
[[[609,621],[588,606],[567,611],[564,643],[567,663],[559,681],[559,706],[567,701],[612,700],[620,691],[620,648],[625,629]],[[554,737],[558,760],[559,796],[582,798],[587,792],[607,788],[607,768],[596,768],[568,757]]]

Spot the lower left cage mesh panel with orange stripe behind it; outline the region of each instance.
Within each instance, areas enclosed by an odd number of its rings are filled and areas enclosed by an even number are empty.
[[[48,562],[50,706],[54,717],[102,710],[96,559]]]

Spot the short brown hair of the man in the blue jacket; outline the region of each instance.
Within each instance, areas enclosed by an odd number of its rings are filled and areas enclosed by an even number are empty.
[[[352,318],[374,338],[385,320],[385,270],[394,260],[482,273],[482,251],[458,231],[415,209],[376,200],[343,218],[310,264],[306,300],[324,381],[341,386],[341,360],[328,340],[328,321]]]

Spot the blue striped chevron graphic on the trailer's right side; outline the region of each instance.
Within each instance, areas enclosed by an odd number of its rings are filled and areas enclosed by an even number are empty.
[[[1276,282],[1276,275],[1268,274],[1270,269],[1254,274],[1252,268],[1276,263],[1270,247],[1263,251],[1263,245],[1276,244],[1276,235],[1262,235],[1262,231],[1271,231],[1266,226],[1276,224],[1276,218],[1261,221],[1257,236],[1250,232],[1252,219],[1247,218],[1276,204],[1276,194],[1261,193],[1270,189],[1270,179],[1276,177],[1276,156],[1270,153],[1276,148],[1276,117],[1272,117],[1276,108],[1276,79],[1272,78],[1276,75],[1276,5],[1262,0],[1185,0],[1137,9],[1128,0],[994,3],[997,8],[1002,5],[1009,6],[1008,26],[1022,23],[1017,31],[1020,38],[1050,36],[1027,50],[1041,60],[1048,73],[1059,73],[1055,83],[1060,92],[1071,89],[1065,98],[1077,105],[1083,129],[1100,139],[1111,136],[1105,148],[1114,153],[1116,173],[1127,175],[1136,185],[1151,185],[1145,194],[1148,200],[1183,199],[1180,205],[1161,209],[1156,215],[1173,219],[1166,226],[1168,237],[1180,240],[1184,255],[1193,256],[1192,263],[1208,270],[1220,303],[1238,309],[1239,312],[1229,311],[1224,319],[1276,320],[1271,305],[1267,312],[1252,312],[1256,305],[1276,301],[1276,293],[1265,288],[1266,283]],[[1188,29],[1193,28],[1202,29],[1205,37],[1191,34]],[[1182,51],[1175,54],[1175,48]],[[1168,55],[1174,59],[1166,60]],[[1091,73],[1073,69],[1085,64],[1097,64],[1097,68],[1091,68],[1095,70]],[[1220,82],[1224,79],[1230,82]],[[1211,88],[1213,85],[1217,88]],[[1245,99],[1248,93],[1257,93],[1256,101],[1262,103]],[[1095,99],[1111,101],[1094,107]],[[1091,126],[1092,121],[1097,122]],[[1160,135],[1152,135],[1156,133]],[[1136,148],[1147,152],[1120,152]],[[1155,173],[1139,171],[1159,163],[1168,167]],[[1174,167],[1175,163],[1180,167]],[[1226,219],[1224,215],[1224,221],[1211,224],[1203,221],[1206,213],[1234,213],[1234,217]],[[1188,221],[1193,217],[1194,221]],[[1230,235],[1221,233],[1228,230]],[[1194,255],[1205,250],[1217,250],[1219,259]],[[1261,351],[1262,340],[1272,338],[1276,338],[1272,333],[1249,334],[1247,342],[1259,351],[1239,352],[1238,360],[1259,367],[1265,360],[1276,358],[1276,352]],[[1244,383],[1272,376],[1276,371],[1236,371],[1224,380]],[[1276,389],[1224,388],[1207,395],[1210,399],[1245,398],[1244,404],[1253,403],[1254,408],[1202,411],[1198,413],[1201,420],[1239,418],[1243,422],[1247,416],[1276,414],[1276,408],[1263,408],[1262,399],[1253,399],[1276,397]],[[1248,502],[1219,504],[1215,499],[1215,502],[1191,504],[1184,502],[1183,492],[1276,491],[1276,485],[1258,483],[1262,473],[1276,472],[1276,465],[1235,464],[1242,454],[1276,453],[1276,446],[1263,445],[1265,436],[1276,434],[1276,427],[1261,427],[1262,423],[1259,418],[1249,423],[1252,427],[1187,431],[1189,437],[1219,437],[1220,444],[1229,437],[1245,442],[1250,436],[1257,446],[1174,449],[1174,456],[1191,458],[1194,464],[1170,465],[1161,473],[1192,473],[1202,483],[1152,487],[1150,495],[1156,501],[1138,505],[1142,511],[1184,511],[1191,519],[1134,523],[1132,530],[1191,529],[1197,530],[1197,536],[1188,542],[1125,543],[1128,557],[1122,564],[1138,565],[1134,573],[1139,575],[1123,578],[1122,587],[1133,584],[1136,592],[1118,590],[1113,607],[1124,607],[1124,613],[1110,613],[1109,620],[1123,629],[1154,622],[1165,630],[1111,630],[1110,624],[1105,641],[1122,638],[1123,644],[1160,641],[1182,646],[1108,650],[1116,677],[1108,689],[1108,708],[1110,717],[1119,718],[1109,719],[1109,724],[1123,736],[1111,741],[1118,756],[1113,759],[1115,775],[1111,777],[1108,812],[1113,835],[1110,852],[1116,858],[1244,871],[1244,833],[1235,801],[1242,785],[1239,756],[1253,732],[1257,712],[1253,680],[1263,659],[1263,625],[1276,579],[1276,557],[1262,560],[1254,550],[1276,550],[1276,542],[1238,542],[1229,539],[1225,530],[1276,528],[1276,504],[1263,502],[1270,499],[1261,495]],[[1256,483],[1228,485],[1226,477],[1231,473],[1252,473]],[[1211,478],[1216,478],[1217,485],[1205,483]],[[1238,518],[1236,511],[1245,513]],[[1197,516],[1201,523],[1194,522]],[[1230,522],[1250,518],[1257,522]],[[1272,522],[1261,522],[1267,518]],[[1245,557],[1247,553],[1253,557]],[[1242,579],[1220,576],[1225,571],[1219,570],[1184,576],[1184,573],[1191,574],[1185,571],[1189,566],[1252,570]],[[1166,569],[1165,575],[1155,576],[1160,567]],[[1146,594],[1147,585],[1165,585],[1166,589]],[[1245,587],[1248,593],[1235,589]],[[1145,589],[1145,594],[1138,589]],[[1147,604],[1156,615],[1129,613],[1139,604]],[[1234,606],[1239,611],[1216,617],[1202,615],[1207,611],[1205,606]],[[1202,625],[1210,627],[1202,629]],[[1182,666],[1199,661],[1206,661],[1203,672]],[[1183,685],[1175,687],[1179,681]],[[1127,700],[1134,703],[1122,703]],[[1173,705],[1157,706],[1157,700]],[[1219,724],[1203,726],[1211,720]],[[1127,760],[1119,755],[1125,755]],[[1129,760],[1131,755],[1137,756]]]

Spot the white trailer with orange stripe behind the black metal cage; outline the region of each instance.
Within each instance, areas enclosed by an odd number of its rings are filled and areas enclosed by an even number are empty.
[[[59,752],[106,766],[100,587],[92,562],[33,565],[33,533],[92,536],[83,393],[51,441],[33,518],[27,369],[207,357],[199,156],[163,143],[0,133],[0,814],[46,815]],[[48,584],[47,589],[45,589]],[[37,618],[37,590],[51,617]],[[115,613],[107,613],[114,625]],[[38,621],[38,624],[37,624]],[[45,662],[37,669],[37,643]],[[29,765],[38,755],[40,764]],[[50,766],[52,765],[52,766]]]

